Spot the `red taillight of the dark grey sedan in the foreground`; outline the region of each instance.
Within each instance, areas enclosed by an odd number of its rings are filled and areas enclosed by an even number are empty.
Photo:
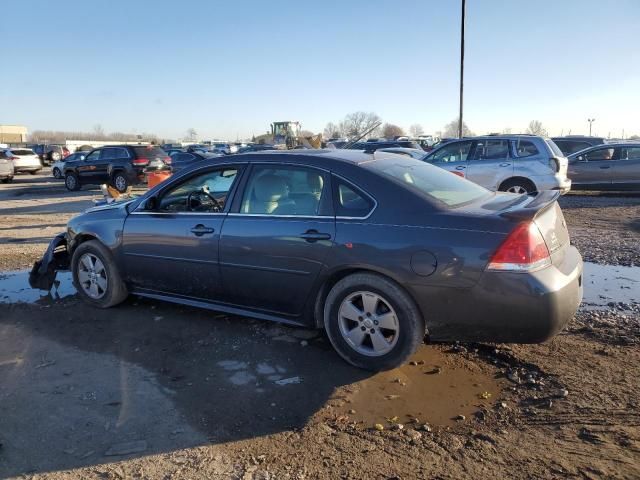
[[[491,257],[489,270],[530,272],[551,265],[549,249],[533,222],[519,224]]]

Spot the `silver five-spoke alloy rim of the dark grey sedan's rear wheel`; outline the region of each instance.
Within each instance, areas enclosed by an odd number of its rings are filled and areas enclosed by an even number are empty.
[[[398,342],[400,323],[391,304],[381,295],[360,291],[347,296],[338,310],[342,337],[356,352],[379,357]]]

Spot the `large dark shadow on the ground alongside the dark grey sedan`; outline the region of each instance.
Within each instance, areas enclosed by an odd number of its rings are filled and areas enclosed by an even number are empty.
[[[135,297],[0,312],[3,478],[299,430],[371,375],[317,331]]]

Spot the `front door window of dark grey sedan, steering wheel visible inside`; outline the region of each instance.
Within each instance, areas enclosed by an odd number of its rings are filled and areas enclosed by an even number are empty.
[[[238,169],[229,167],[191,177],[165,192],[158,210],[169,213],[220,213],[224,210],[237,176]]]

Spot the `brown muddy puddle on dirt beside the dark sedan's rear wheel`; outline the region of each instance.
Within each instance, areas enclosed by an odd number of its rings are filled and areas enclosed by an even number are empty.
[[[422,346],[411,361],[351,385],[339,413],[366,428],[424,423],[449,426],[489,408],[500,382],[459,355]],[[407,425],[409,426],[409,425]]]

